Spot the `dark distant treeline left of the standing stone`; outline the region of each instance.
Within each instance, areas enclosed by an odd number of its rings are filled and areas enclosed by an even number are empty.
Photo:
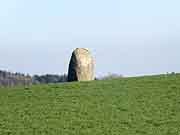
[[[67,75],[26,75],[0,70],[0,86],[28,86],[32,84],[61,83],[67,81]]]

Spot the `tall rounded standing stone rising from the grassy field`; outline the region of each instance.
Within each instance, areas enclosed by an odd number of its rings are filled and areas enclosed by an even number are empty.
[[[69,63],[68,81],[94,80],[94,60],[89,50],[77,48]]]

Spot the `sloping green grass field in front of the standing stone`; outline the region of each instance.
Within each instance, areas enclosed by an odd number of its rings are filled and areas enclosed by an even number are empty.
[[[1,88],[0,135],[180,135],[180,75]]]

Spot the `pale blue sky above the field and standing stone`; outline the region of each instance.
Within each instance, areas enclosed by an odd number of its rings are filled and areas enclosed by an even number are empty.
[[[0,0],[0,69],[68,71],[89,48],[96,76],[180,72],[179,0]]]

